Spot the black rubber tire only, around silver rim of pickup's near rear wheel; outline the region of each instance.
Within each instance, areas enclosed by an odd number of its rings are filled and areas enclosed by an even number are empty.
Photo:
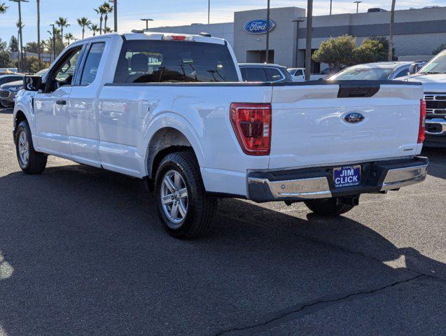
[[[165,188],[163,180],[167,174],[172,174],[172,171],[180,174],[188,192],[186,215],[181,223],[174,223],[169,219],[161,200],[162,188]],[[162,159],[155,177],[155,197],[158,216],[170,235],[179,239],[193,239],[202,237],[209,230],[216,210],[216,198],[205,192],[200,167],[193,152],[170,153]]]

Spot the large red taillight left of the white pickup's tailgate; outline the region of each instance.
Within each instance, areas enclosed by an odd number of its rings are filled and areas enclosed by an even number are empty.
[[[245,154],[270,154],[271,111],[271,104],[231,104],[232,127]]]

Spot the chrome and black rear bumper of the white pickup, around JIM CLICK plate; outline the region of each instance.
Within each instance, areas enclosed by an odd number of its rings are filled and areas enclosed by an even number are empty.
[[[358,186],[335,188],[332,167],[317,167],[248,174],[248,198],[255,202],[305,201],[379,193],[410,186],[426,179],[428,159],[366,162]]]

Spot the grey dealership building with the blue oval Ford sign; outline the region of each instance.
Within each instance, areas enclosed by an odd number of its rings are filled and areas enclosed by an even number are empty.
[[[266,9],[234,13],[234,22],[193,24],[176,27],[154,27],[149,31],[182,34],[209,32],[225,38],[239,62],[265,62]],[[306,45],[305,8],[284,7],[270,10],[270,62],[288,67],[304,67]],[[330,37],[349,34],[358,44],[364,38],[389,35],[389,11],[313,17],[312,50]],[[394,47],[400,60],[426,59],[432,50],[446,43],[446,7],[395,11]],[[312,72],[320,70],[312,62]]]

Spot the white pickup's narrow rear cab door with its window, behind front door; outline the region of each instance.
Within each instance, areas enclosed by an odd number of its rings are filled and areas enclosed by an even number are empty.
[[[76,83],[69,96],[69,142],[76,162],[101,167],[99,160],[98,96],[102,88],[102,55],[106,38],[85,46]]]

